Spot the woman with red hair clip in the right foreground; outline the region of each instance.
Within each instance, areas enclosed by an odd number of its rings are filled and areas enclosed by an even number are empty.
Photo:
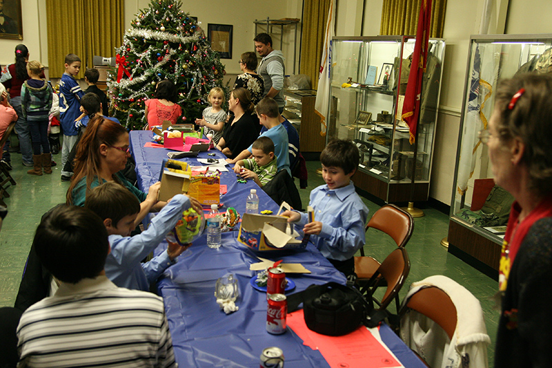
[[[552,361],[552,77],[525,74],[497,88],[489,131],[496,184],[515,198],[502,244],[495,367]]]

